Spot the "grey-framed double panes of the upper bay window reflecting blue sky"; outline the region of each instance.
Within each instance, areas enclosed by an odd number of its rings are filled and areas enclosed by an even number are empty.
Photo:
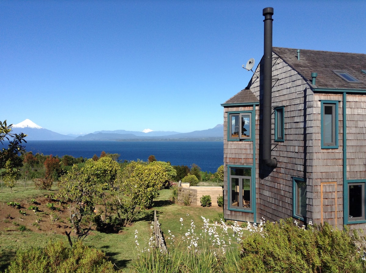
[[[251,140],[251,113],[229,114],[229,140]]]

